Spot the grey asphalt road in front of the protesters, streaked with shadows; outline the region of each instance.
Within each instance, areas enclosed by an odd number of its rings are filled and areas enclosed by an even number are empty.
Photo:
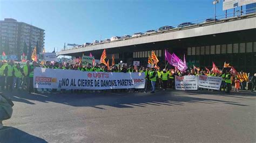
[[[256,142],[256,94],[4,92],[0,142]]]

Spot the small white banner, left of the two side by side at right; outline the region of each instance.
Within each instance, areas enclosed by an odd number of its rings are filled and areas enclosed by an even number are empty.
[[[175,76],[175,89],[176,90],[197,90],[198,78],[197,76]]]

